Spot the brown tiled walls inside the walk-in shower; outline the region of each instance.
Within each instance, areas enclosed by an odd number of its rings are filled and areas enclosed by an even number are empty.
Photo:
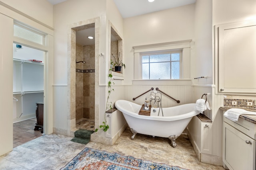
[[[95,114],[95,46],[76,43],[76,121],[94,119]]]

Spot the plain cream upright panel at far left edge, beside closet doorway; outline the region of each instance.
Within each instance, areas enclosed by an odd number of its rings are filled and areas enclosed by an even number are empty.
[[[0,14],[0,155],[12,150],[13,20]],[[4,82],[4,83],[3,83]]]

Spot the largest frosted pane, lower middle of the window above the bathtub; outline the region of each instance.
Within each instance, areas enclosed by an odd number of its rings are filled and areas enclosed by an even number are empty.
[[[150,79],[170,79],[170,63],[150,63]]]

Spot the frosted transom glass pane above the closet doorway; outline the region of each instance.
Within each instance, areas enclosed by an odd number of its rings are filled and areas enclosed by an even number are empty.
[[[20,37],[34,43],[42,44],[44,43],[44,36],[28,29],[19,27],[18,25],[14,25],[14,36]]]

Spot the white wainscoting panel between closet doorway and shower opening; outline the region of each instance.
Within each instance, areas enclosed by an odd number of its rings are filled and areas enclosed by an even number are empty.
[[[70,132],[67,89],[67,85],[53,85],[53,133],[61,135],[68,135]]]

